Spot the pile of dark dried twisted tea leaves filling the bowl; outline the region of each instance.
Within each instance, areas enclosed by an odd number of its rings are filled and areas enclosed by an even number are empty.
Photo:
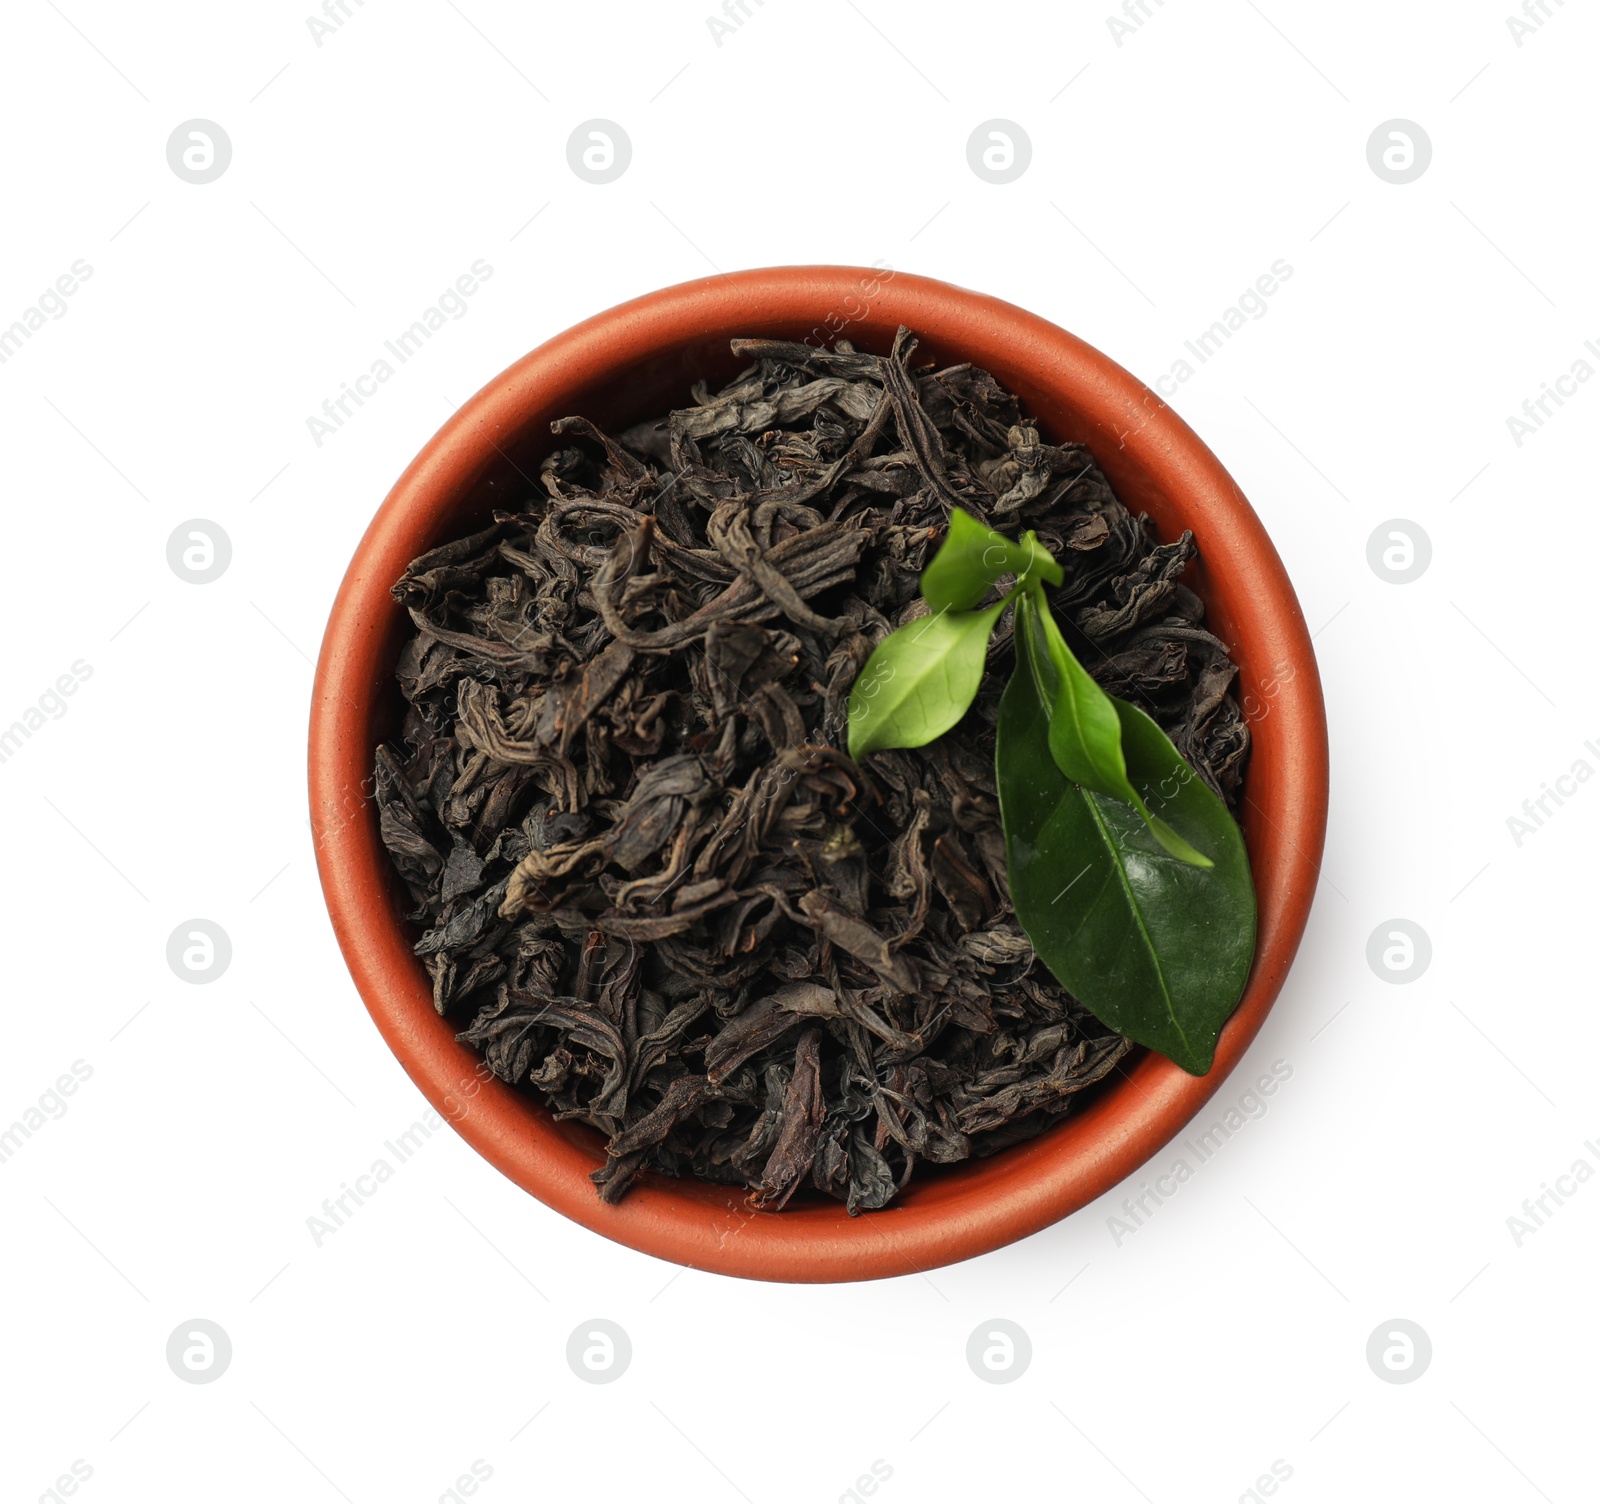
[[[986,371],[915,366],[907,330],[888,357],[733,349],[747,370],[690,408],[557,422],[522,510],[406,570],[382,837],[437,1008],[605,1136],[605,1200],[654,1170],[877,1210],[918,1162],[1042,1133],[1130,1050],[1008,904],[1005,674],[926,747],[843,750],[950,507],[1037,531],[1083,662],[1230,802],[1248,730],[1179,581],[1192,536],[1155,542]],[[1008,619],[989,653],[1010,667]]]

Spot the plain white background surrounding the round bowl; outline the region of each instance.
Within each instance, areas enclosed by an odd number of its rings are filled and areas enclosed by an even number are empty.
[[[1600,341],[1592,8],[1517,45],[1509,0],[10,0],[0,325],[93,267],[0,366],[0,1126],[93,1075],[0,1165],[0,1482],[86,1499],[1592,1499],[1600,1186],[1507,1218],[1600,1141],[1592,435]],[[224,126],[227,173],[166,139]],[[608,186],[573,128],[632,139]],[[1034,147],[981,181],[992,117]],[[1382,181],[1374,126],[1418,122]],[[534,218],[538,216],[538,218]],[[531,222],[530,222],[531,221]],[[306,419],[475,259],[493,277],[317,446]],[[312,659],[382,494],[490,376],[592,312],[714,269],[875,258],[1008,298],[1154,381],[1277,261],[1293,277],[1173,405],[1266,520],[1317,630],[1325,880],[1219,1104],[1267,1114],[1120,1245],[1136,1182],[982,1259],[875,1285],[678,1272],[565,1222],[438,1134],[322,1246],[307,1218],[424,1107],[346,974],[306,822]],[[1600,366],[1600,358],[1590,357]],[[232,539],[208,586],[166,539]],[[1397,586],[1368,536],[1406,518]],[[1203,539],[1202,539],[1203,542]],[[1568,786],[1571,787],[1571,786]],[[234,960],[168,968],[206,917]],[[1366,962],[1402,917],[1434,960]],[[1214,1114],[1213,1114],[1214,1115]],[[1203,1126],[1203,1125],[1202,1125]],[[1165,1170],[1174,1150],[1150,1168]],[[1067,1286],[1070,1282],[1070,1288]],[[181,1384],[168,1334],[234,1346]],[[579,1382],[573,1328],[629,1371]],[[1005,1317],[1005,1386],[966,1365]],[[1432,1339],[1381,1382],[1370,1333]],[[531,1419],[534,1418],[536,1419]],[[1280,1469],[1282,1472],[1282,1469]],[[80,1469],[82,1474],[82,1469]]]

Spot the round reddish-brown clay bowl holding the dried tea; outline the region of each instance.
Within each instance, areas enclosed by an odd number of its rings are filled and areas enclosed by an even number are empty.
[[[1259,902],[1256,960],[1216,1064],[1184,1074],[1138,1053],[1114,1085],[1030,1142],[914,1179],[883,1211],[838,1203],[757,1213],[738,1189],[643,1176],[618,1206],[589,1182],[600,1136],[557,1123],[488,1077],[434,1011],[408,907],[378,834],[373,750],[394,734],[394,662],[410,627],[389,587],[426,549],[514,504],[554,446],[550,421],[618,427],[682,406],[698,378],[731,376],[736,336],[846,334],[886,352],[909,325],[920,357],[971,360],[1046,435],[1090,446],[1117,494],[1162,538],[1194,528],[1187,582],[1240,667],[1254,750],[1243,826]],[[1254,701],[1256,709],[1251,710]],[[310,808],[333,928],[389,1048],[485,1158],[546,1205],[643,1253],[762,1280],[866,1280],[987,1253],[1077,1211],[1131,1174],[1238,1064],[1299,946],[1328,813],[1322,688],[1299,602],[1256,514],[1216,456],[1144,382],[1043,318],[944,282],[862,267],[771,267],[664,288],[579,323],[467,402],[379,507],[333,603],[310,715]]]

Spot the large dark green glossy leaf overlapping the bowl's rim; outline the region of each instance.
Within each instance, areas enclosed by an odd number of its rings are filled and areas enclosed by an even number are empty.
[[[1018,635],[1000,701],[995,773],[1018,922],[1040,960],[1101,1022],[1184,1070],[1211,1069],[1256,949],[1256,898],[1238,826],[1160,726],[1118,706],[1130,779],[1179,840],[1213,856],[1192,866],[1155,840],[1130,803],[1072,782]]]

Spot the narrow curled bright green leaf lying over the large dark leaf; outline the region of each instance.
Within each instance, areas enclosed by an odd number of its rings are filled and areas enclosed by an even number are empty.
[[[1056,626],[1043,600],[1042,589],[1024,592],[1018,603],[1018,635],[1026,637],[1029,674],[1050,722],[1050,754],[1056,766],[1075,784],[1133,805],[1150,827],[1150,834],[1179,861],[1210,867],[1211,858],[1197,851],[1166,821],[1152,814],[1130,779],[1130,717],[1142,723],[1136,730],[1142,738],[1146,763],[1152,757],[1152,733],[1160,747],[1165,747],[1165,752],[1157,747],[1154,755],[1170,754],[1178,758],[1178,749],[1142,710],[1107,694],[1094,683],[1067,646],[1061,627]]]

